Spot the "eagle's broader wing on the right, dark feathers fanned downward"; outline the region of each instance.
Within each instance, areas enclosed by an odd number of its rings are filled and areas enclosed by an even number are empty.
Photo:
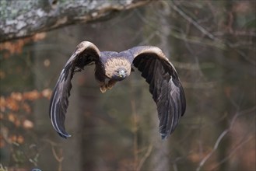
[[[162,138],[167,138],[177,127],[186,110],[186,99],[177,72],[158,47],[133,47],[129,50],[133,65],[149,83],[149,92],[157,106]]]

